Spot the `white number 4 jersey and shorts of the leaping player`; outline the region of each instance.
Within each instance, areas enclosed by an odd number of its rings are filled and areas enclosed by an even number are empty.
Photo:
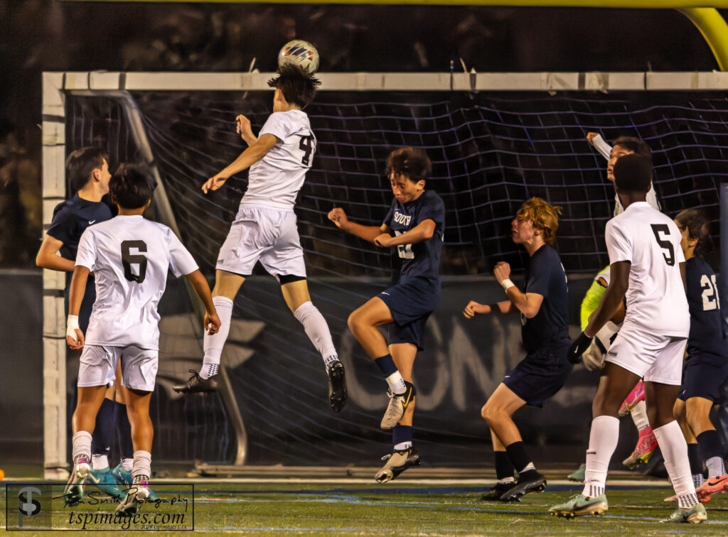
[[[276,143],[248,172],[248,189],[218,255],[216,268],[249,276],[258,260],[273,276],[306,277],[296,227],[298,191],[316,151],[309,117],[300,110],[274,112],[259,136]]]

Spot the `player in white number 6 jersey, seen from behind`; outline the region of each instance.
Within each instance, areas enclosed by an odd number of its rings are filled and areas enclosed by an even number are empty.
[[[215,333],[220,320],[210,287],[197,263],[170,228],[145,220],[155,187],[148,172],[121,167],[111,178],[111,201],[119,215],[90,226],[81,236],[71,279],[66,341],[83,349],[79,365],[78,403],[72,421],[74,469],[66,486],[66,503],[81,501],[91,474],[91,433],[106,386],[114,381],[121,363],[127,388],[134,456],[133,485],[116,511],[133,514],[138,502],[149,498],[151,442],[149,400],[159,365],[157,303],[167,285],[167,271],[185,274],[205,305],[205,327]],[[90,272],[95,274],[96,301],[85,335],[79,328],[79,309]]]

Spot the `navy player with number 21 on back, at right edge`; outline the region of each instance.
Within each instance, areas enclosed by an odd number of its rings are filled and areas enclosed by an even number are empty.
[[[721,384],[728,378],[728,339],[721,317],[716,274],[700,258],[710,221],[703,211],[689,209],[678,214],[675,223],[682,234],[680,246],[685,254],[690,333],[683,383],[673,415],[687,440],[695,492],[705,503],[712,494],[728,491],[723,448],[710,418],[713,403],[720,398]],[[703,482],[703,463],[708,468],[706,482]]]

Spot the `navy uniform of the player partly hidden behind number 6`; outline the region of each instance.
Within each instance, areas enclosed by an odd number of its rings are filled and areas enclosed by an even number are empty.
[[[95,223],[111,219],[111,209],[103,202],[90,202],[76,194],[73,198],[61,202],[55,208],[53,220],[47,233],[54,239],[63,242],[60,255],[64,259],[75,260],[79,240],[85,229]],[[68,293],[71,287],[71,273],[66,274],[65,304],[68,311]],[[79,327],[83,333],[89,325],[89,317],[96,300],[94,277],[89,276],[86,283],[84,299],[79,309]]]

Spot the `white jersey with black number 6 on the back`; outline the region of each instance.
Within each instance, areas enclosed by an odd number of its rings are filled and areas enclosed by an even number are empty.
[[[159,349],[157,304],[175,277],[191,274],[197,263],[173,231],[142,216],[116,216],[84,231],[76,266],[96,276],[86,344]]]

